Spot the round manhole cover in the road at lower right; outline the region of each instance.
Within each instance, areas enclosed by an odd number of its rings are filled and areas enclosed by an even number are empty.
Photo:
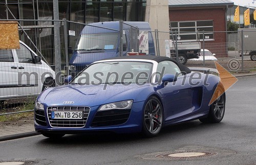
[[[160,155],[156,155],[156,157],[170,158],[170,159],[184,159],[184,158],[187,159],[187,158],[212,156],[216,154],[217,153],[211,153],[211,152],[177,152],[177,153],[160,154]]]

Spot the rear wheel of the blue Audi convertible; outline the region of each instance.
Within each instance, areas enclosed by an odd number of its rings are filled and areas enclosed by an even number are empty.
[[[220,91],[218,91],[220,92]],[[210,111],[206,118],[199,119],[202,123],[220,123],[225,113],[225,93],[210,105]]]

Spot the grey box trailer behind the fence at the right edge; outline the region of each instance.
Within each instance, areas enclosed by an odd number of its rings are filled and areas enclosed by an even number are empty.
[[[250,56],[252,61],[256,61],[256,28],[239,28],[238,29],[238,46],[239,55],[242,56],[242,50],[244,56]],[[243,31],[243,38],[242,38]],[[243,40],[243,43],[242,43]],[[243,47],[243,49],[242,49]]]

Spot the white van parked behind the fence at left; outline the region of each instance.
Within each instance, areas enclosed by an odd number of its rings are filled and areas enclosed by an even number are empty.
[[[37,96],[55,86],[53,69],[24,42],[20,49],[0,50],[0,100]]]

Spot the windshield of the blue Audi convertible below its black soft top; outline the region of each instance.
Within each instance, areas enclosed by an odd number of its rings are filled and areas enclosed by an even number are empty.
[[[150,82],[153,64],[149,62],[112,61],[90,65],[71,83],[146,83]]]

